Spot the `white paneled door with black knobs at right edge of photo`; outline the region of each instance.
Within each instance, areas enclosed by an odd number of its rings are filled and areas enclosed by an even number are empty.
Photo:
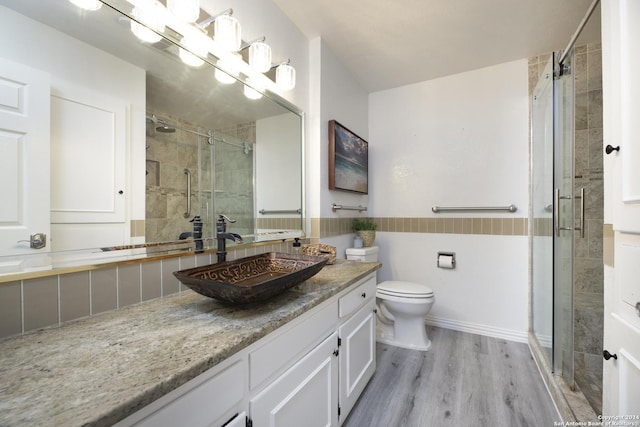
[[[602,2],[606,199],[614,266],[605,267],[603,415],[640,423],[640,2]],[[612,425],[614,425],[612,424]],[[631,424],[629,424],[631,425]]]

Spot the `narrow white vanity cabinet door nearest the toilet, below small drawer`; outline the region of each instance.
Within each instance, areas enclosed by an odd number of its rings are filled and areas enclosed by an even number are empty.
[[[347,418],[376,370],[375,301],[371,299],[339,329],[340,422]]]

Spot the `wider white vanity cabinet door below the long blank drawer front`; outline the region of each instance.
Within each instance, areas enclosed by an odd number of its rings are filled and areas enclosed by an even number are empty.
[[[337,345],[334,332],[251,399],[253,426],[337,426]]]

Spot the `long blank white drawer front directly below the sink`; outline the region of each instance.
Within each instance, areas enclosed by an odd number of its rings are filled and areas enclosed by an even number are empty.
[[[337,302],[314,313],[292,327],[273,332],[271,338],[249,353],[249,386],[253,390],[269,378],[291,366],[304,353],[335,331],[338,322]],[[280,332],[280,333],[279,333]]]

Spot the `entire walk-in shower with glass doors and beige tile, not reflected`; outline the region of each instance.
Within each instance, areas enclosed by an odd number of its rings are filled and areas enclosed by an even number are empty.
[[[530,343],[568,407],[564,414],[579,421],[602,411],[600,52],[599,43],[570,43],[561,58],[552,54],[535,64],[537,75],[530,76],[537,79],[531,94]],[[582,407],[573,407],[576,402]]]

